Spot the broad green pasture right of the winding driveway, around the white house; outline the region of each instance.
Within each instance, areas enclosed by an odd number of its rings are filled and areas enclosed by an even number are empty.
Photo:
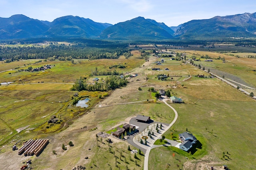
[[[195,104],[172,104],[178,111],[178,121],[174,124],[177,133],[188,128],[196,137],[201,136],[206,151],[220,164],[227,164],[230,169],[252,169],[255,152],[250,146],[256,141],[250,135],[254,131],[255,102],[200,100]],[[189,118],[188,118],[189,117]],[[250,129],[250,131],[248,131]],[[172,131],[166,132],[166,137]],[[205,147],[205,146],[202,146]],[[222,152],[229,156],[222,158]]]

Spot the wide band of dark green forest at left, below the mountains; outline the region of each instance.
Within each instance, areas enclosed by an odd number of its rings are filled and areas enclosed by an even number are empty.
[[[49,45],[46,47],[2,47],[0,48],[0,60],[6,59],[6,63],[20,59],[50,59],[72,60],[72,59],[118,59],[120,55],[127,58],[132,55],[126,48],[95,48],[86,44],[75,45]]]

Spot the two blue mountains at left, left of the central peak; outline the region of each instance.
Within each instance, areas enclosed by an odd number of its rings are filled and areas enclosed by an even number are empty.
[[[26,39],[37,37],[85,37],[99,35],[109,23],[97,23],[78,16],[64,16],[52,22],[39,21],[24,15],[0,18],[0,39]]]

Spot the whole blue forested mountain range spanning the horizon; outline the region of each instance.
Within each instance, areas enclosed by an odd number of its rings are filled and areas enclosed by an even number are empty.
[[[98,23],[78,16],[64,16],[52,22],[18,14],[0,18],[0,39],[37,37],[83,37],[88,39],[224,39],[256,37],[256,13],[216,16],[192,20],[177,27],[143,17],[116,23]]]

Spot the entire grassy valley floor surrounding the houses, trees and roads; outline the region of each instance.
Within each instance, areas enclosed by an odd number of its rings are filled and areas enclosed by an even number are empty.
[[[223,51],[228,48],[219,46]],[[150,45],[143,47],[148,50],[152,48]],[[256,86],[254,72],[250,71],[254,69],[254,59],[236,58],[229,53],[227,55],[200,49],[168,50],[186,53],[188,59],[192,55],[197,59],[201,55],[224,57],[226,63],[217,59],[211,63],[205,63],[204,59],[194,63],[234,75],[244,83]],[[128,151],[129,144],[126,141],[112,137],[113,143],[109,144],[105,138],[96,137],[96,134],[129,123],[138,114],[150,116],[157,122],[171,123],[174,111],[154,97],[156,92],[164,89],[170,90],[171,96],[182,98],[185,102],[173,104],[168,101],[178,112],[178,119],[164,134],[166,139],[172,139],[173,135],[177,140],[178,134],[187,129],[200,141],[201,147],[194,149],[192,154],[175,147],[152,149],[149,170],[206,169],[204,167],[208,162],[226,164],[231,170],[253,168],[251,162],[254,162],[256,156],[253,152],[256,141],[251,132],[256,130],[252,126],[256,119],[255,100],[218,78],[210,78],[210,74],[192,64],[164,58],[162,65],[156,65],[159,58],[148,55],[149,61],[145,61],[141,59],[140,51],[132,53],[133,56],[128,59],[124,56],[119,59],[75,59],[74,64],[71,61],[36,63],[37,60],[2,63],[1,70],[8,71],[0,73],[0,81],[14,83],[0,86],[0,166],[17,169],[22,166],[22,162],[31,159],[32,167],[38,170],[71,170],[80,165],[92,169],[141,170],[144,167],[144,155],[137,154],[136,159]],[[246,55],[249,54],[250,49]],[[44,72],[24,72],[16,68],[19,65],[23,65],[24,69],[29,66],[36,68],[46,64],[52,65],[52,68]],[[109,68],[118,64],[126,67]],[[114,69],[123,73],[136,73],[138,76],[129,78],[126,86],[108,92],[70,90],[77,78],[82,77],[93,83],[94,78],[104,80],[106,76],[90,76],[92,72]],[[159,74],[169,74],[170,79],[158,80]],[[196,77],[198,74],[204,74],[206,78]],[[149,92],[150,88],[154,88],[155,92]],[[89,98],[89,106],[73,106],[76,95],[81,100]],[[49,123],[53,115],[61,121]],[[38,157],[25,157],[11,150],[17,141],[29,139],[50,139],[50,143]],[[70,141],[74,146],[68,145]],[[18,148],[22,142],[17,144]],[[62,144],[66,150],[62,149]],[[132,145],[130,148],[136,149]],[[16,162],[12,163],[13,160]]]

